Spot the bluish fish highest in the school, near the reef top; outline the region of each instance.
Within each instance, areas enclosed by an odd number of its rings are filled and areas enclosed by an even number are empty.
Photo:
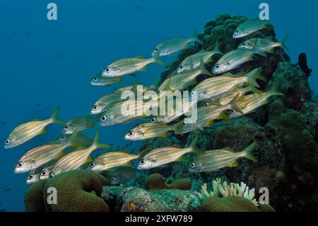
[[[238,26],[234,33],[233,38],[243,38],[247,35],[250,35],[257,30],[262,30],[271,26],[271,23],[266,20],[260,20],[259,18],[252,18],[249,21],[245,21]]]

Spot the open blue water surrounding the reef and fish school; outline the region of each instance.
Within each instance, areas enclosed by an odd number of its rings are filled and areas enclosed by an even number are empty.
[[[71,120],[89,114],[101,96],[134,82],[125,77],[108,88],[90,86],[90,79],[107,64],[122,57],[149,56],[165,38],[203,33],[204,24],[220,13],[257,17],[262,1],[97,1],[52,0],[57,21],[47,20],[50,1],[0,1],[0,140],[16,126],[33,118],[46,119],[56,106],[60,118]],[[266,1],[278,40],[289,35],[289,55],[297,62],[306,52],[313,69],[318,64],[318,1]],[[165,60],[169,62],[170,57]],[[152,84],[163,67],[151,64],[138,80]],[[318,93],[318,77],[311,77]],[[135,123],[136,124],[136,123]],[[102,142],[126,145],[130,125],[100,128]],[[59,135],[60,125],[14,149],[0,147],[0,209],[23,211],[28,174],[14,174],[20,157]],[[86,131],[93,137],[95,129]],[[141,142],[134,142],[138,148]],[[8,190],[7,190],[8,189]],[[6,190],[6,191],[5,191]]]

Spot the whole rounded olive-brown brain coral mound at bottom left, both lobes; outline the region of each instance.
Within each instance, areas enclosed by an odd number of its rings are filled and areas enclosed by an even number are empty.
[[[46,210],[48,212],[90,212],[109,211],[100,195],[102,186],[108,185],[105,178],[86,170],[73,170],[55,176],[53,179],[35,183],[25,193],[25,210]],[[48,188],[57,189],[57,204],[47,203]]]

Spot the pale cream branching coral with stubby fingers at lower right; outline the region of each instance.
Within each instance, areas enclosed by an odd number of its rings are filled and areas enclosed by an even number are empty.
[[[226,183],[224,181],[222,183],[221,179],[216,179],[212,181],[212,191],[208,192],[208,185],[204,183],[201,186],[201,193],[196,192],[196,194],[201,198],[201,200],[206,200],[210,197],[228,197],[228,196],[241,196],[248,200],[251,200],[254,205],[259,206],[257,200],[254,198],[255,196],[255,189],[249,189],[246,183],[241,182],[239,183]]]

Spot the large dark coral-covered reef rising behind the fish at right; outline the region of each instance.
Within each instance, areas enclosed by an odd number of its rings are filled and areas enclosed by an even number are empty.
[[[185,57],[202,49],[213,50],[217,41],[220,44],[221,52],[235,50],[237,45],[249,38],[270,36],[274,41],[278,41],[272,26],[248,37],[233,39],[233,31],[244,21],[247,21],[244,16],[223,14],[217,16],[214,21],[206,23],[204,34],[199,35],[204,45],[196,44],[194,47],[182,50],[177,60],[165,67],[160,81],[170,77]],[[206,64],[206,69],[211,69],[218,60],[217,57],[220,56],[216,55],[212,62]],[[188,135],[148,140],[144,142],[144,145],[148,149],[156,149],[172,145],[175,140],[178,140],[180,147],[187,147],[192,139],[198,136],[198,146],[201,149],[230,147],[239,151],[256,141],[258,145],[254,156],[259,162],[255,164],[246,159],[239,159],[239,164],[235,169],[228,168],[216,172],[192,174],[188,171],[188,167],[196,158],[196,154],[187,154],[182,162],[168,164],[162,169],[151,169],[149,173],[162,174],[167,181],[187,178],[192,181],[194,191],[200,191],[204,183],[220,177],[223,181],[244,181],[255,188],[256,200],[259,198],[260,188],[269,188],[270,204],[275,210],[317,211],[318,104],[312,99],[312,91],[307,80],[308,75],[298,65],[290,63],[290,57],[282,48],[275,48],[267,57],[257,56],[256,60],[241,66],[232,73],[247,72],[261,66],[262,75],[268,80],[266,83],[260,82],[261,89],[269,90],[275,84],[277,90],[285,96],[273,96],[269,99],[269,104],[240,118],[230,121],[222,120],[216,122],[211,128],[196,130]],[[200,82],[205,78],[200,75],[196,81]],[[160,81],[158,81],[159,84]],[[189,89],[192,87],[190,86]],[[237,203],[236,200],[242,200],[240,197],[232,196],[213,197],[213,199],[212,201],[211,198],[207,198],[205,202],[220,203],[218,200],[222,200],[218,210],[222,210],[221,207],[223,204],[225,205],[226,200],[230,200],[229,203],[232,202],[232,199],[234,203]],[[202,207],[201,210],[208,210],[208,205],[205,206],[206,208]],[[234,206],[232,207],[234,208]],[[273,210],[266,205],[260,205],[258,209],[255,206],[251,208],[257,211]],[[243,209],[249,210],[242,206],[241,210]],[[225,210],[229,209],[225,208]]]

